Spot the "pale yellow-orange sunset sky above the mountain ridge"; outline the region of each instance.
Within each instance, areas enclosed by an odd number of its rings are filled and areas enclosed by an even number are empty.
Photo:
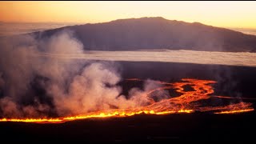
[[[1,22],[109,22],[163,17],[211,26],[256,28],[256,2],[0,2]]]

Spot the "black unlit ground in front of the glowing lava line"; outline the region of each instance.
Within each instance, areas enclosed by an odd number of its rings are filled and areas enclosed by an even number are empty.
[[[256,114],[137,115],[60,124],[1,122],[6,142],[255,141]]]

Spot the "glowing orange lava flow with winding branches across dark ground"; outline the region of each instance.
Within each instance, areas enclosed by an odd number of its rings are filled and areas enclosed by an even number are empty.
[[[128,81],[142,81],[138,78],[130,78]],[[76,115],[62,118],[2,118],[0,122],[38,122],[38,123],[58,123],[67,122],[85,118],[106,118],[106,117],[127,117],[134,114],[177,114],[177,113],[193,113],[195,111],[210,111],[214,114],[235,114],[254,110],[250,102],[229,103],[222,106],[203,106],[204,101],[210,98],[226,98],[239,99],[226,96],[210,95],[214,93],[213,86],[215,81],[198,80],[192,78],[183,78],[182,82],[160,82],[155,81],[161,86],[154,90],[146,91],[142,97],[146,97],[148,105],[130,109],[114,109],[90,112],[83,115]],[[186,86],[190,86],[193,90],[185,90]],[[175,90],[179,96],[164,98],[160,101],[154,99],[154,93],[159,90]],[[240,98],[242,99],[242,98]],[[246,99],[246,98],[245,98]],[[250,99],[250,98],[247,98]]]

